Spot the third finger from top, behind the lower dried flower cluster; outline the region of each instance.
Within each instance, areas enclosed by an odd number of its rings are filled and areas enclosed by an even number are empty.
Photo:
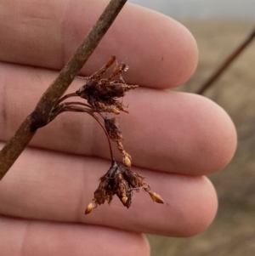
[[[0,213],[21,218],[104,225],[165,236],[191,236],[207,228],[217,209],[212,184],[204,177],[133,168],[164,204],[133,192],[124,208],[118,198],[84,215],[111,162],[99,158],[26,149],[0,184]]]

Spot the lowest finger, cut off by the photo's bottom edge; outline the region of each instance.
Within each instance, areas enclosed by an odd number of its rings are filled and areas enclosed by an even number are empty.
[[[143,235],[99,226],[0,217],[0,229],[2,256],[150,254]]]

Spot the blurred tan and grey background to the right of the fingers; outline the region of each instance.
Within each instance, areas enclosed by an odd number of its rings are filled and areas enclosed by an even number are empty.
[[[186,26],[199,48],[195,75],[178,90],[195,93],[252,31],[255,0],[129,0]],[[229,166],[209,176],[218,191],[218,214],[190,238],[148,235],[152,256],[255,255],[255,40],[204,96],[235,122],[238,147]]]

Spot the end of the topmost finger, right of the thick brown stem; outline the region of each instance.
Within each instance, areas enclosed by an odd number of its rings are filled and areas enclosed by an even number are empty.
[[[86,71],[96,70],[109,53],[130,66],[125,81],[150,88],[173,88],[186,82],[198,60],[195,38],[187,28],[164,14],[129,3],[88,61]]]

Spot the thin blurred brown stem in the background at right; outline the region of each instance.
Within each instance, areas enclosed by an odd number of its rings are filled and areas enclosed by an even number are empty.
[[[252,42],[252,39],[255,37],[255,27],[252,29],[252,32],[249,33],[248,37],[241,42],[241,44],[224,60],[224,62],[218,67],[216,71],[212,73],[212,75],[202,83],[201,88],[199,88],[196,94],[203,94],[212,83],[215,82],[218,77],[220,77],[223,72],[229,67],[231,63],[241,54],[241,52]]]

